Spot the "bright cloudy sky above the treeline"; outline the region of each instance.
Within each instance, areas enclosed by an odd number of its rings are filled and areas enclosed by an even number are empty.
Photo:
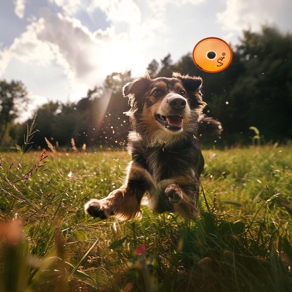
[[[0,0],[0,80],[25,85],[25,120],[49,101],[77,102],[112,72],[139,77],[168,53],[177,62],[206,37],[235,46],[243,29],[291,33],[291,12],[291,0]]]

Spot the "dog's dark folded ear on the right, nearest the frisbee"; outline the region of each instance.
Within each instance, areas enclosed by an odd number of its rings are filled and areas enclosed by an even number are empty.
[[[177,78],[183,84],[183,87],[187,91],[191,102],[190,106],[194,107],[199,114],[201,114],[204,107],[207,105],[206,102],[202,100],[201,87],[202,78],[201,77],[191,77],[189,75],[181,75],[178,72],[173,72],[172,76]]]

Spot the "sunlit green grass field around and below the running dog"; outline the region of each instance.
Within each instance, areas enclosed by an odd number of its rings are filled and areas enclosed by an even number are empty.
[[[85,215],[121,185],[124,151],[1,155],[0,291],[292,291],[288,146],[204,150],[188,222]]]

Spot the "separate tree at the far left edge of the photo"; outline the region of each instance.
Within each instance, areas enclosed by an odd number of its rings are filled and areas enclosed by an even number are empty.
[[[27,91],[21,81],[0,81],[0,145],[8,124],[18,117],[18,105],[23,102],[27,102]]]

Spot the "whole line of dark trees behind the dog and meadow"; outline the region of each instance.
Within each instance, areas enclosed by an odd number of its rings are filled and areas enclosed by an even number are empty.
[[[177,63],[168,54],[160,64],[153,60],[146,70],[152,78],[171,77],[173,71],[203,79],[204,113],[223,125],[222,136],[202,137],[200,143],[216,147],[292,140],[292,34],[262,27],[260,33],[244,31],[233,48],[230,65],[223,71],[208,73],[198,69],[187,53]],[[77,103],[48,102],[37,110],[33,145],[47,147],[45,137],[57,147],[84,144],[90,149],[123,148],[128,134],[128,101],[121,88],[136,77],[131,70],[113,72],[102,86],[88,90]],[[24,144],[24,134],[32,119],[15,123],[18,106],[27,102],[21,81],[0,81],[0,149]],[[259,135],[250,129],[256,127]],[[211,144],[210,144],[211,143]]]

